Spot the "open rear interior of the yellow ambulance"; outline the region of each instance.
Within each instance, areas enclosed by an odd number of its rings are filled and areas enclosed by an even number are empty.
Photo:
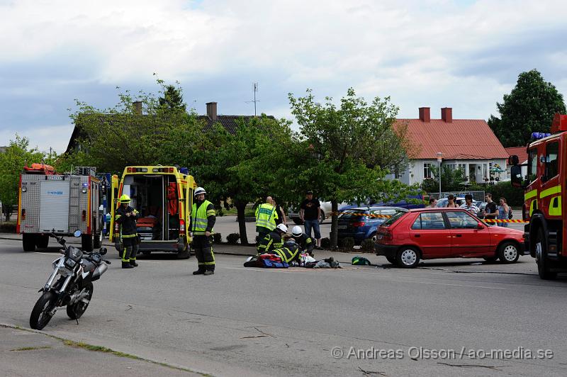
[[[130,206],[140,212],[137,221],[142,241],[173,241],[179,237],[179,197],[170,184],[177,184],[174,175],[128,175],[123,193],[129,193]],[[168,190],[169,188],[169,190]],[[169,195],[168,195],[169,191]]]

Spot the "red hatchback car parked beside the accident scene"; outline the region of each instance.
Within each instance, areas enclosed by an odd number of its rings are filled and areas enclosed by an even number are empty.
[[[420,208],[393,215],[376,235],[376,255],[411,268],[420,259],[484,258],[515,263],[524,253],[524,232],[488,226],[461,208]]]

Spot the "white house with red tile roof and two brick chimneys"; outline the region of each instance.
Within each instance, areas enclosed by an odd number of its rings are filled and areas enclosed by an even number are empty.
[[[452,108],[442,108],[441,118],[432,119],[430,108],[419,108],[417,119],[397,119],[408,127],[408,169],[393,178],[405,184],[421,184],[434,178],[432,167],[439,161],[451,169],[462,169],[469,183],[502,181],[509,154],[483,119],[453,119]]]

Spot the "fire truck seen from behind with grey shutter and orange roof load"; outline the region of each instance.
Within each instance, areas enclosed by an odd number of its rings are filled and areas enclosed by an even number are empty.
[[[16,223],[23,250],[46,248],[51,232],[69,236],[77,230],[82,232],[83,251],[101,247],[103,221],[96,169],[78,169],[80,174],[57,174],[46,164],[23,169]]]

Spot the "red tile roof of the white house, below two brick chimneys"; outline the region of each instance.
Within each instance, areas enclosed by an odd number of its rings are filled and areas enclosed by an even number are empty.
[[[397,119],[408,124],[408,137],[417,149],[415,159],[507,159],[508,154],[485,120]]]

